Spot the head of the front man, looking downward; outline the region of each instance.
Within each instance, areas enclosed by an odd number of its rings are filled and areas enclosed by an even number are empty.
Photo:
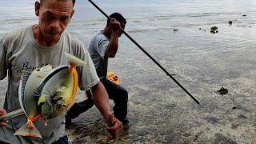
[[[45,0],[36,2],[35,13],[39,17],[39,29],[46,38],[56,40],[74,14],[72,1]]]

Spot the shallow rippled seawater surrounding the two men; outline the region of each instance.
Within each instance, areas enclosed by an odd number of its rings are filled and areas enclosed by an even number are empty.
[[[129,91],[130,125],[111,140],[94,107],[74,120],[74,143],[251,143],[255,133],[255,3],[253,0],[96,0],[107,14],[127,18],[126,31],[162,64],[202,106],[198,106],[122,36],[110,70]],[[1,1],[0,38],[37,22],[34,2]],[[113,5],[114,3],[114,5]],[[89,2],[78,1],[67,30],[88,46],[106,25]],[[16,11],[16,13],[15,13]],[[17,13],[18,11],[18,13]],[[242,14],[246,14],[243,17]],[[233,25],[228,22],[233,21]],[[218,34],[210,27],[218,26]],[[174,28],[178,31],[174,32]],[[6,80],[1,81],[1,103]],[[224,86],[226,95],[215,91]],[[83,94],[78,94],[80,99]],[[113,105],[113,102],[112,102]]]

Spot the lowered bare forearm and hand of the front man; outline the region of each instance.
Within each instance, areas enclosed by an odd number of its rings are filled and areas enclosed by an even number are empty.
[[[116,138],[122,129],[122,122],[111,114],[109,98],[102,82],[98,82],[98,84],[92,87],[92,95],[95,106],[106,119],[106,122],[108,122],[106,130],[110,132],[113,138]]]

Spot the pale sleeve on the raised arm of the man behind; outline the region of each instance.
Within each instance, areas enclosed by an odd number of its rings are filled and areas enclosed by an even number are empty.
[[[107,38],[104,38],[102,35],[98,35],[98,37],[95,39],[95,47],[98,51],[98,54],[105,59],[106,55],[106,48],[109,45],[109,40]]]

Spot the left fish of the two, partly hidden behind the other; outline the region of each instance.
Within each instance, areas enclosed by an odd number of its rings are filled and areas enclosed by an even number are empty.
[[[42,82],[42,79],[52,70],[52,66],[46,65],[42,68],[37,68],[30,71],[22,71],[22,79],[18,88],[18,98],[23,112],[27,116],[26,127],[29,127],[29,133],[26,136],[38,136],[42,138],[37,129],[34,129],[33,122],[40,116],[38,110],[38,99],[34,97],[34,90]],[[20,130],[17,130],[14,135],[21,135],[21,130],[25,128],[22,126]]]

